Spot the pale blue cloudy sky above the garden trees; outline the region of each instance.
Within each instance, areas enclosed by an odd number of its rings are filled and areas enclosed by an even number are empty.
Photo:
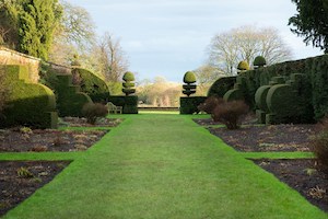
[[[139,80],[165,77],[180,82],[207,59],[213,35],[243,25],[274,27],[293,50],[293,59],[323,54],[290,32],[296,13],[291,0],[68,0],[85,8],[97,34],[120,37],[130,70]]]

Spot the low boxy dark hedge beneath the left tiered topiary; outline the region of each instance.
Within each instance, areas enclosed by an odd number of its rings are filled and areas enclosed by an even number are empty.
[[[122,106],[124,114],[138,114],[138,96],[136,95],[109,96],[108,102],[112,102],[116,106]]]

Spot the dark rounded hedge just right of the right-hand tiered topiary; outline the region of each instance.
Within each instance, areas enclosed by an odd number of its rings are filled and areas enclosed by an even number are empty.
[[[224,94],[234,88],[236,77],[224,77],[218,79],[210,88],[208,96],[223,97]]]

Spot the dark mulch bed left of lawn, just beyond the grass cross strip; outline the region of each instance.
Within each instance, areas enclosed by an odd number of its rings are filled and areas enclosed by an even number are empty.
[[[0,152],[83,151],[108,130],[4,129],[0,131]]]

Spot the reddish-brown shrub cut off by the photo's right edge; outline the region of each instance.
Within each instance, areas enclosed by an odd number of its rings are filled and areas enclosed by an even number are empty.
[[[324,171],[328,173],[328,118],[318,125],[319,132],[312,139],[312,151],[321,164]]]

